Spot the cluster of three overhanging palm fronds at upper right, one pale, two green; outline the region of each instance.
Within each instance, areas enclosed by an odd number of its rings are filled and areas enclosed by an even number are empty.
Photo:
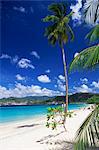
[[[74,58],[70,64],[70,72],[93,69],[99,65],[99,1],[86,0],[83,11],[85,22],[93,26],[85,38],[89,43],[95,42],[95,45],[84,49]]]

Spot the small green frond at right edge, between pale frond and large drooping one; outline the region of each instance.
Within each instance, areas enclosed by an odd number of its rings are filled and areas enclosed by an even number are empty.
[[[99,24],[96,25],[87,35],[86,37],[90,42],[95,42],[99,40]]]

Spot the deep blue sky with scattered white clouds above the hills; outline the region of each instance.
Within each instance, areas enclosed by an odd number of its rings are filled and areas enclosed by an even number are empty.
[[[90,27],[81,21],[82,0],[69,1],[67,13],[75,10],[70,25],[75,40],[65,45],[68,65],[88,47],[85,35]],[[55,1],[53,1],[55,2]],[[50,12],[52,1],[2,1],[0,48],[0,98],[63,95],[64,72],[61,49],[51,46],[42,22]],[[99,93],[99,71],[82,71],[69,75],[69,93]]]

